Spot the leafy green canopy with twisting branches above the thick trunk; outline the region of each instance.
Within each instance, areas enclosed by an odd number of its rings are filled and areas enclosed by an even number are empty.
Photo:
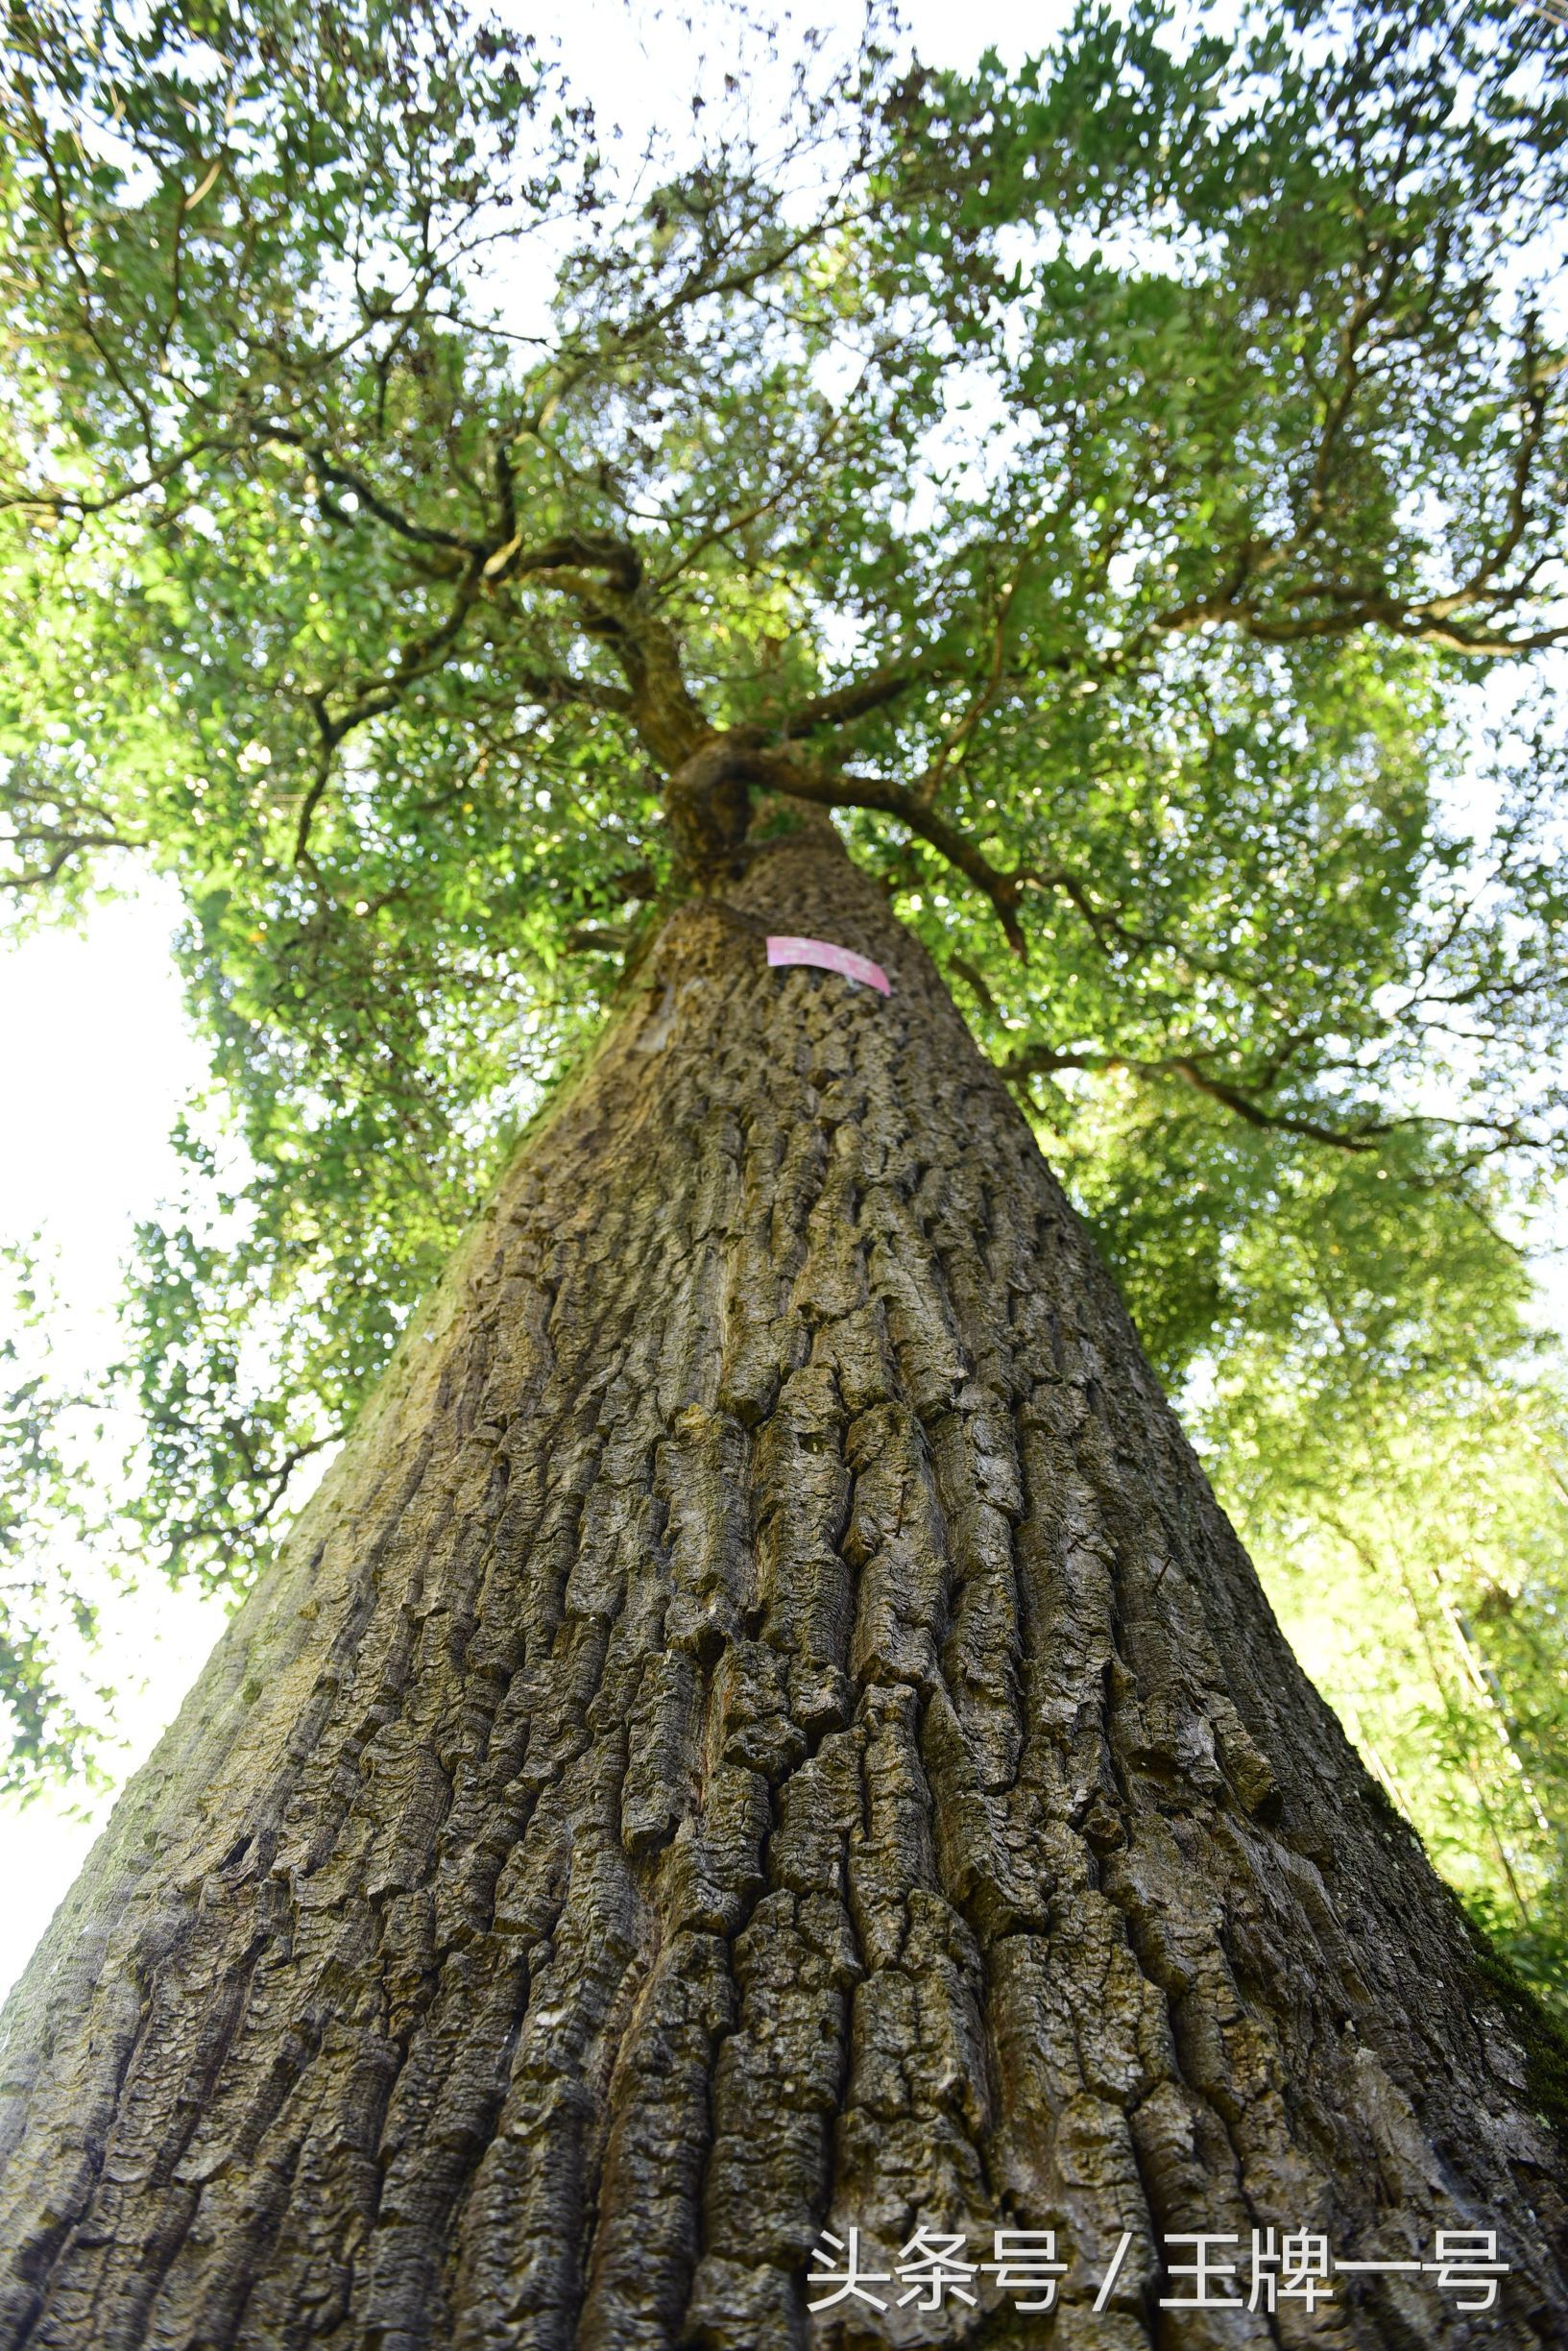
[[[5,889],[174,875],[214,1067],[127,1302],[136,1540],[252,1573],[776,788],[947,973],[1281,1603],[1375,1594],[1429,1723],[1361,1737],[1530,1961],[1561,33],[1133,0],[969,75],[712,33],[644,148],[444,0],[12,16]],[[24,1773],[75,1751],[28,1589]]]

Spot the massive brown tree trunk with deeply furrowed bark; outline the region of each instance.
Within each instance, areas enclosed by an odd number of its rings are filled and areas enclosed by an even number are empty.
[[[1514,2012],[919,947],[806,832],[644,976],[12,2001],[0,2344],[1568,2342]],[[809,2320],[851,2224],[1060,2311]],[[1159,2309],[1267,2226],[1512,2273]]]

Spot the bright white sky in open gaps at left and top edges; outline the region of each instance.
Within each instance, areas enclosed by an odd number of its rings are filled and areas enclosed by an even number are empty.
[[[844,24],[851,14],[839,0]],[[799,12],[811,16],[809,7]],[[987,45],[1016,59],[1039,47],[1067,14],[1063,0],[905,0],[919,52],[971,63]],[[529,9],[534,31],[555,16],[569,63],[592,87],[602,120],[628,134],[679,103],[668,24],[661,38],[628,38],[621,0],[571,0]],[[543,19],[543,21],[541,21]],[[0,957],[0,1100],[12,1128],[0,1147],[0,1239],[45,1232],[59,1253],[66,1300],[56,1333],[66,1359],[103,1361],[132,1225],[174,1187],[169,1126],[202,1056],[190,1037],[169,933],[172,886],[106,905],[80,933],[45,933]],[[1561,1295],[1568,1307],[1568,1295]],[[1566,1317],[1568,1319],[1568,1317]],[[148,1578],[141,1594],[106,1592],[106,1646],[125,1688],[120,1726],[129,1770],[153,1747],[212,1648],[223,1608]],[[0,1803],[0,1991],[21,1970],[52,1909],[78,1874],[106,1801]]]

